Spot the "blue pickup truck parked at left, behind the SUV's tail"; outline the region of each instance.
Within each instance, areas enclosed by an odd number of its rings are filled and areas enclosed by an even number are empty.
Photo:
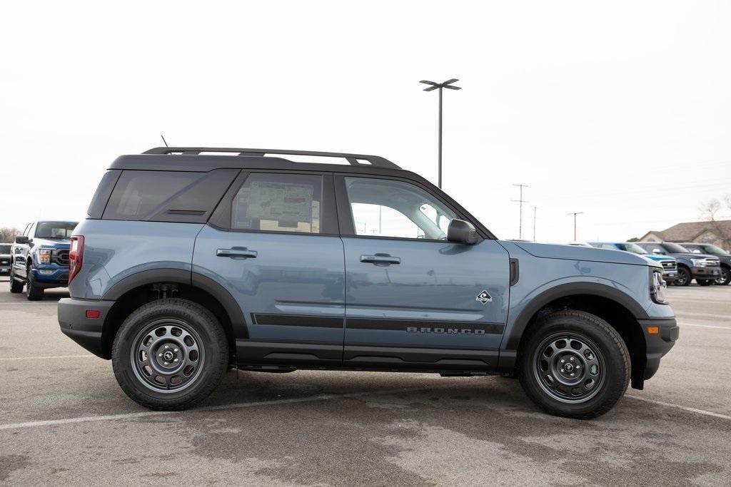
[[[61,288],[69,279],[69,243],[75,221],[29,223],[12,245],[10,292],[22,293],[30,301],[43,299],[48,288]]]

